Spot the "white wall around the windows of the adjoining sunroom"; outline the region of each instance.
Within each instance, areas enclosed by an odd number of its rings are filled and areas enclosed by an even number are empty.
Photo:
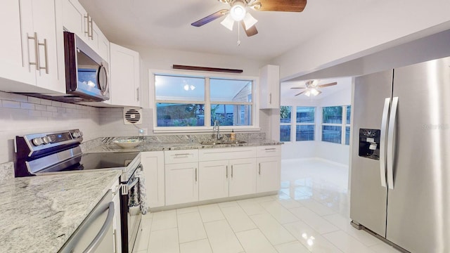
[[[352,103],[352,78],[347,77],[339,82],[344,87],[340,91],[325,96],[321,99],[299,100],[296,98],[281,98],[281,105],[314,106],[316,107],[316,141],[290,141],[282,146],[282,159],[295,158],[321,158],[340,164],[349,164],[349,145],[327,143],[321,141],[322,107],[334,105],[350,105]],[[326,88],[324,88],[326,89]],[[319,95],[320,96],[320,95]],[[317,97],[319,98],[319,97]]]

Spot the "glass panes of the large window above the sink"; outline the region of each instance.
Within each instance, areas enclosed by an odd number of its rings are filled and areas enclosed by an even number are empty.
[[[253,80],[155,74],[156,127],[253,126],[253,89]]]

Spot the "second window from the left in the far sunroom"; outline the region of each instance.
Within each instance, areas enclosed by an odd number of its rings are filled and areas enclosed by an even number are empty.
[[[295,141],[314,141],[314,107],[297,106]]]

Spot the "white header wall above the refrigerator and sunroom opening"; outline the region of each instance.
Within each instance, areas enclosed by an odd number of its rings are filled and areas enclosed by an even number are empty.
[[[290,79],[345,63],[450,29],[449,9],[448,0],[372,1],[271,64],[280,65],[281,79]]]

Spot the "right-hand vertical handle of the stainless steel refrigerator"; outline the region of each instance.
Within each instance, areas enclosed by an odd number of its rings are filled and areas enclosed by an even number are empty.
[[[392,98],[392,108],[389,116],[389,130],[387,131],[387,186],[394,189],[394,155],[395,155],[395,124],[397,119],[397,106],[399,98]]]

